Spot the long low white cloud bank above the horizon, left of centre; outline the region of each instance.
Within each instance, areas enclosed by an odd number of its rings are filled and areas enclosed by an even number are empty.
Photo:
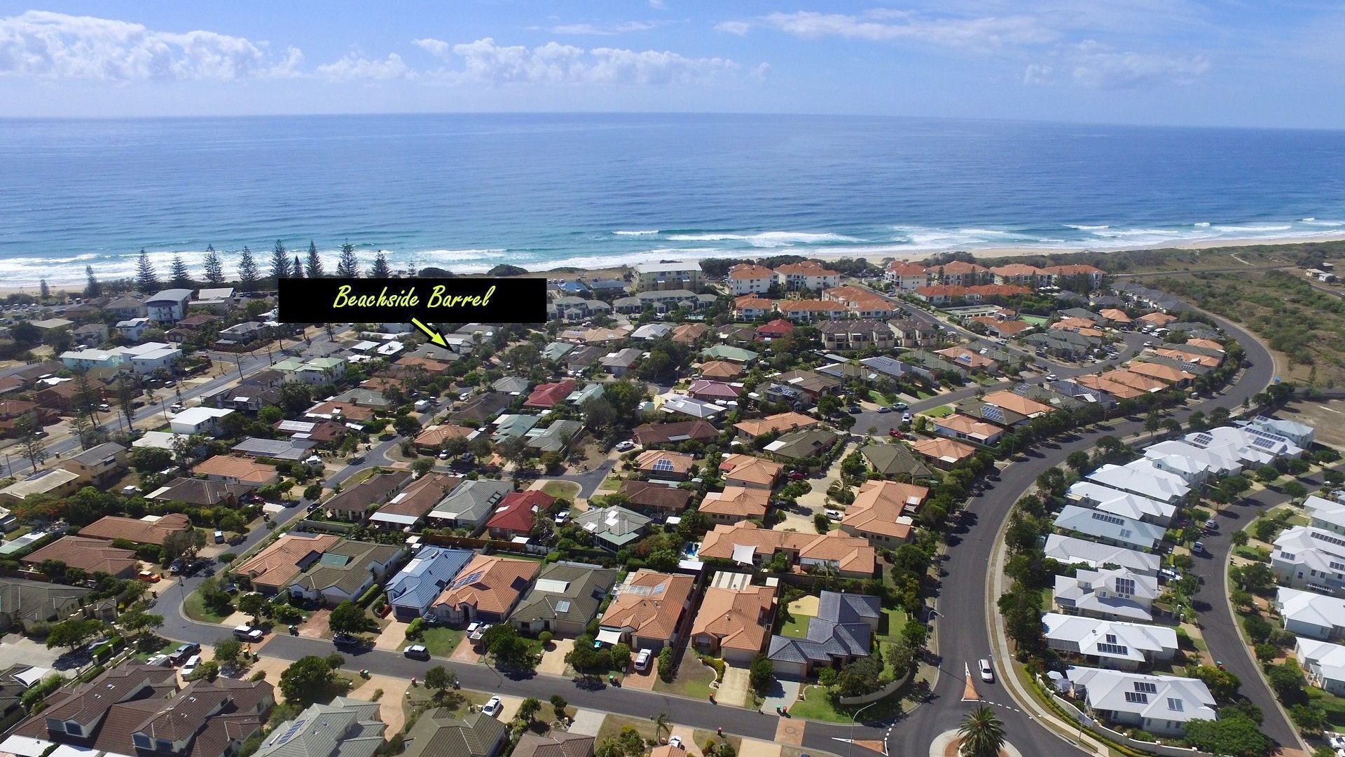
[[[492,85],[506,84],[707,84],[736,74],[740,66],[726,58],[687,58],[659,50],[623,50],[547,42],[538,47],[500,46],[491,38],[463,44],[421,39],[417,44],[445,61],[461,61],[461,69],[441,71],[444,78],[464,78]]]

